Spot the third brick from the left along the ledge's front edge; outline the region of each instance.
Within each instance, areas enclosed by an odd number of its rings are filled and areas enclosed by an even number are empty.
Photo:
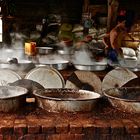
[[[41,126],[39,125],[33,125],[33,124],[28,124],[28,133],[29,134],[37,134],[40,133],[41,131]]]

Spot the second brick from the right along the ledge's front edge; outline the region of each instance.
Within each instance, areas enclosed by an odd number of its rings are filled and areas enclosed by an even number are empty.
[[[124,134],[125,128],[121,120],[110,120],[111,134]]]

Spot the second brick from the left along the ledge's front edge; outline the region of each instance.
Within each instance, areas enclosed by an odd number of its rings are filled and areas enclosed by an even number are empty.
[[[19,136],[25,135],[27,133],[27,125],[26,124],[15,124],[14,133]]]

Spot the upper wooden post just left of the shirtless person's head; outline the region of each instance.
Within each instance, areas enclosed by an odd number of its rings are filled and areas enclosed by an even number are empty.
[[[118,7],[119,7],[118,0],[108,0],[108,20],[107,20],[108,32],[116,25]]]

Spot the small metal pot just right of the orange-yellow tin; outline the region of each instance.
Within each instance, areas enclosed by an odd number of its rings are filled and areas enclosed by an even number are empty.
[[[51,47],[36,47],[38,54],[45,55],[53,52]]]

